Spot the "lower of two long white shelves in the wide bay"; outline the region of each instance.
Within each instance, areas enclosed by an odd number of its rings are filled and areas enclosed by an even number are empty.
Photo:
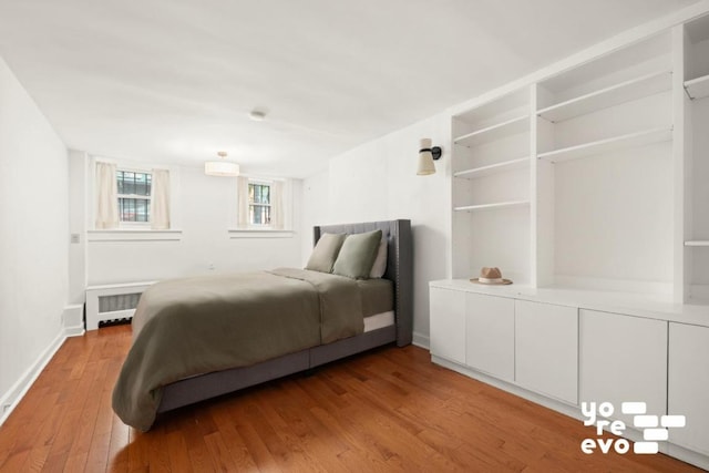
[[[554,150],[537,154],[537,158],[547,160],[552,163],[559,163],[579,157],[593,156],[595,154],[608,153],[612,151],[629,147],[645,146],[653,143],[661,143],[672,138],[672,128],[653,128],[626,135],[614,136],[612,138],[599,140],[569,146],[562,150]]]

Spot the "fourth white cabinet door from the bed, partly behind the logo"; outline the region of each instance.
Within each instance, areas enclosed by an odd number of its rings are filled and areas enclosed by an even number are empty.
[[[580,309],[580,402],[608,401],[614,419],[623,402],[646,402],[647,414],[667,410],[667,322]]]

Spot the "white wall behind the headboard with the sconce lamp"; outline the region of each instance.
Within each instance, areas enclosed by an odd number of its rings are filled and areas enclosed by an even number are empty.
[[[304,183],[304,234],[314,225],[407,218],[413,228],[414,342],[428,346],[430,280],[450,261],[450,115],[439,114],[333,157]],[[436,174],[417,175],[419,140],[443,147]],[[307,259],[312,238],[304,241]]]

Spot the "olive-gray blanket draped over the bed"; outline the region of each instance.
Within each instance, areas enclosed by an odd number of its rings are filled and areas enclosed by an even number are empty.
[[[113,390],[113,410],[146,431],[165,384],[363,329],[357,282],[341,276],[282,268],[157,282],[133,316],[133,346]]]

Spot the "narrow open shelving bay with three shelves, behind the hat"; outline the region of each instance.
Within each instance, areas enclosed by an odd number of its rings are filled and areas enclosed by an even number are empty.
[[[453,266],[471,277],[502,266],[531,278],[530,89],[524,88],[453,117]]]

